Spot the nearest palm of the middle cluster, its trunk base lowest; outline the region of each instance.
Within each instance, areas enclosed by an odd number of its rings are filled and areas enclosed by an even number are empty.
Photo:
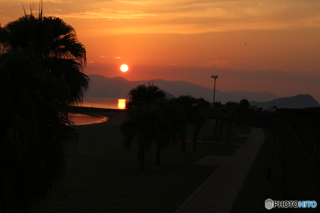
[[[158,106],[138,105],[131,110],[129,119],[125,119],[120,125],[124,147],[130,150],[133,140],[138,144],[141,171],[145,170],[145,149],[149,150],[150,142],[156,140],[164,122],[164,114]]]

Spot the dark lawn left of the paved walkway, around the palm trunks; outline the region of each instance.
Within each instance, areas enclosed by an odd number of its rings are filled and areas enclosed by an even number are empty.
[[[210,125],[203,130],[213,128]],[[103,123],[78,127],[79,145],[68,156],[61,189],[38,212],[173,213],[219,168],[196,162],[207,155],[231,156],[240,147],[198,143],[192,152],[187,143],[187,153],[182,154],[177,144],[162,151],[156,167],[152,146],[145,156],[146,171],[141,172],[137,147],[125,150],[118,128]],[[238,128],[239,133],[249,131]]]

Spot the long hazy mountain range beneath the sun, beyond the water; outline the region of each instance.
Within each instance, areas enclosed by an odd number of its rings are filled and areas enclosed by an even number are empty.
[[[149,81],[128,81],[123,77],[107,78],[102,75],[88,76],[91,82],[89,84],[89,90],[85,94],[87,97],[126,99],[130,90],[140,84],[148,85],[149,83]],[[153,84],[161,90],[170,93],[171,98],[173,96],[179,97],[180,95],[189,94],[195,98],[204,98],[207,101],[213,102],[213,89],[195,85],[187,81],[165,81],[162,79],[155,79]],[[277,96],[271,92],[221,92],[217,89],[215,91],[215,101],[221,101],[223,104],[228,101],[239,102],[241,99],[265,102],[276,98]]]

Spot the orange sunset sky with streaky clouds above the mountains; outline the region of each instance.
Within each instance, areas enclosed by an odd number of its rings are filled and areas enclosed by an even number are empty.
[[[1,26],[32,1],[0,0]],[[38,2],[35,2],[39,7]],[[220,91],[310,94],[320,102],[319,0],[44,0],[75,28],[85,74],[185,80]],[[129,70],[121,72],[127,64]]]

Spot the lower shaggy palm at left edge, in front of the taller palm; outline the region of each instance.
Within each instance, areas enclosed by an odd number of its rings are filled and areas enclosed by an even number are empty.
[[[65,151],[76,146],[61,78],[46,72],[37,54],[0,54],[0,207],[28,212],[61,181]]]

